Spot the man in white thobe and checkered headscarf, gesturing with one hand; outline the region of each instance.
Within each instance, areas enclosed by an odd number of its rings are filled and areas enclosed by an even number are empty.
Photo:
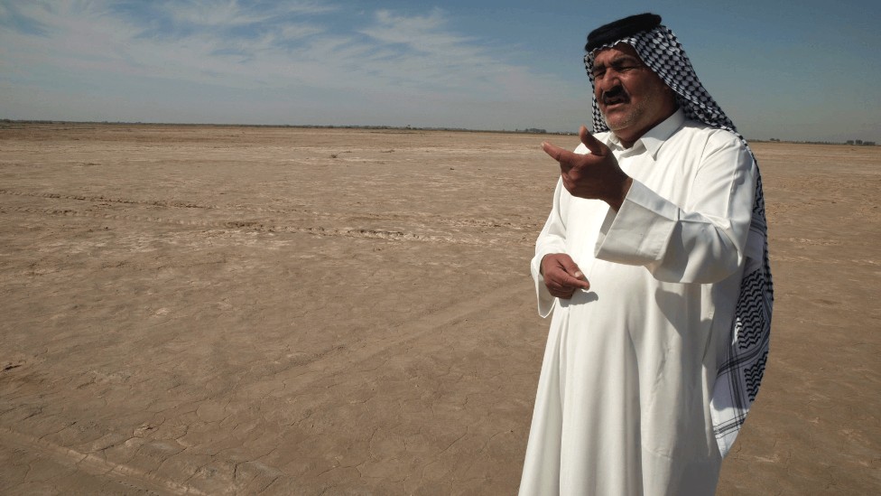
[[[596,136],[543,144],[561,178],[531,268],[553,318],[520,492],[713,494],[768,350],[756,161],[660,16],[585,48]]]

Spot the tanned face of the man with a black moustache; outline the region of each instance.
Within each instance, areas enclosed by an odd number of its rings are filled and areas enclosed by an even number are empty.
[[[593,78],[599,110],[625,144],[632,144],[676,109],[672,89],[626,43],[597,53]]]

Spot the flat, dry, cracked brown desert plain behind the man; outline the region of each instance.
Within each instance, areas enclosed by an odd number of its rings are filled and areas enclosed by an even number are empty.
[[[574,136],[0,128],[0,493],[513,494]],[[881,147],[754,145],[772,354],[719,494],[881,491]]]

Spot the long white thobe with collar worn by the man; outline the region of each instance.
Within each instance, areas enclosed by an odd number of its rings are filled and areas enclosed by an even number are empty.
[[[713,494],[722,457],[709,402],[756,165],[737,136],[681,110],[629,149],[597,137],[634,182],[617,212],[557,183],[531,264],[539,314],[555,310],[520,494]],[[590,289],[550,295],[539,273],[550,253],[568,253]]]

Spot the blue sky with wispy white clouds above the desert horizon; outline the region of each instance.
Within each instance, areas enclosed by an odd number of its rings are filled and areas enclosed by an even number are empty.
[[[0,0],[0,118],[574,131],[586,34],[646,11],[747,138],[881,142],[868,0]]]

